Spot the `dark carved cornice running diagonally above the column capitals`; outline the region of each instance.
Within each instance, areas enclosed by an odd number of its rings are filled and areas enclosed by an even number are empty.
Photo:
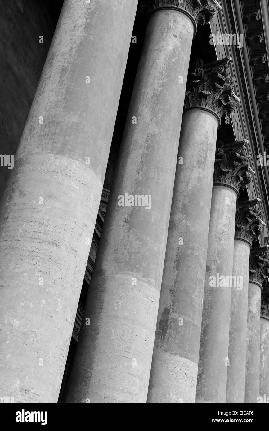
[[[250,153],[253,161],[256,160],[256,155],[263,154],[264,150],[264,136],[261,130],[261,122],[259,118],[260,104],[256,102],[257,92],[266,90],[268,84],[263,84],[258,75],[265,75],[264,82],[267,81],[268,73],[268,40],[269,40],[269,6],[267,1],[253,0],[252,4],[255,7],[260,7],[261,18],[258,22],[252,22],[251,24],[243,23],[243,12],[246,11],[247,4],[249,2],[237,1],[224,1],[222,3],[223,11],[216,18],[213,19],[213,23],[210,24],[213,31],[216,33],[218,30],[220,33],[238,33],[244,35],[244,41],[246,41],[246,34],[249,29],[262,30],[264,34],[264,41],[261,45],[248,46],[246,43],[243,44],[241,49],[238,49],[234,45],[219,46],[217,52],[219,56],[230,55],[233,57],[233,75],[237,80],[238,94],[241,96],[242,103],[235,111],[233,120],[234,130],[240,130],[236,135],[236,140],[241,134],[242,136],[248,136],[251,140]],[[263,12],[263,9],[266,9]],[[251,26],[251,27],[250,27]],[[264,53],[266,61],[260,63],[257,66],[251,66],[250,55],[260,55]],[[253,85],[253,75],[256,76],[257,80],[254,81],[256,87]],[[244,102],[243,102],[244,101]],[[266,104],[266,102],[263,102]],[[268,102],[267,102],[268,104]],[[237,115],[236,115],[237,114]],[[264,121],[264,120],[263,120]],[[238,122],[238,126],[236,124]],[[237,127],[236,127],[237,126]],[[261,208],[263,209],[263,218],[266,221],[266,227],[269,227],[269,172],[267,166],[258,166],[256,170],[255,179],[253,185],[250,184],[249,196],[252,198],[255,196],[261,197]],[[268,236],[268,232],[265,229],[264,235]],[[263,237],[261,238],[263,241]]]

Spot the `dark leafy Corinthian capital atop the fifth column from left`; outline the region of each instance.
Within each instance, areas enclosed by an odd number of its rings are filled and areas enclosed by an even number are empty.
[[[264,223],[260,219],[260,199],[238,202],[235,214],[235,237],[252,243],[263,231]]]

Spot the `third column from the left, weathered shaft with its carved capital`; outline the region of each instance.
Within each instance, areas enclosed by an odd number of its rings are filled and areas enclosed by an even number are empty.
[[[187,84],[148,403],[195,402],[217,129],[235,104],[222,106],[230,63],[197,60]]]

